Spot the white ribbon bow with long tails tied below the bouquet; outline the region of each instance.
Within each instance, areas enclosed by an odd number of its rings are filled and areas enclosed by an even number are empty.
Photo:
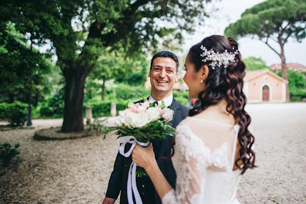
[[[124,148],[126,147],[126,144],[130,143],[132,146],[128,150],[128,152],[124,152]],[[139,144],[141,146],[148,146],[150,141],[148,142],[139,142],[137,139],[133,136],[125,136],[125,137],[120,137],[120,148],[119,148],[119,153],[123,155],[123,157],[130,157],[132,154],[132,150],[136,146],[136,144]],[[134,204],[133,201],[133,194],[134,194],[134,199],[136,201],[136,204],[143,204],[141,201],[141,196],[138,192],[137,185],[136,185],[136,168],[137,164],[132,161],[130,165],[130,170],[128,170],[128,186],[127,186],[127,192],[128,192],[128,203],[129,204]]]

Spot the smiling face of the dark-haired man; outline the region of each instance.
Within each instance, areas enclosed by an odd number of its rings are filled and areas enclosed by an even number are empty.
[[[172,58],[155,58],[149,73],[152,91],[163,94],[171,92],[178,80],[176,62]]]

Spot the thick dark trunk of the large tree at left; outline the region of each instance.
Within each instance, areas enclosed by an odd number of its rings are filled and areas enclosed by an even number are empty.
[[[64,95],[64,121],[61,131],[64,133],[84,131],[83,98],[86,71],[69,69],[64,73],[66,87]]]

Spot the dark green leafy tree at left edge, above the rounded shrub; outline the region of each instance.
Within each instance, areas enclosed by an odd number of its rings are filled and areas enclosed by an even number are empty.
[[[0,47],[1,102],[27,102],[28,94],[39,98],[46,82],[43,75],[49,71],[51,63],[27,45],[25,35],[16,30],[13,23],[1,23]]]

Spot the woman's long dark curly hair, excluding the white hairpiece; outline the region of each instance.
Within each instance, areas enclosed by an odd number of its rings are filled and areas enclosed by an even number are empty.
[[[208,50],[213,49],[215,52],[224,53],[235,52],[235,62],[231,62],[225,68],[224,65],[215,66],[215,69],[209,65],[211,61],[203,62],[201,45]],[[246,105],[246,95],[242,91],[244,87],[244,76],[246,75],[246,65],[242,61],[242,56],[238,49],[237,41],[233,38],[213,35],[204,38],[200,43],[193,45],[189,50],[189,60],[195,66],[198,72],[203,65],[209,67],[209,76],[205,81],[206,89],[198,94],[198,101],[193,109],[189,111],[189,116],[201,113],[208,106],[217,104],[223,98],[226,99],[226,111],[232,114],[235,122],[239,124],[238,141],[240,145],[239,158],[235,161],[237,168],[242,170],[242,174],[248,168],[255,167],[255,152],[252,150],[255,138],[248,131],[250,125],[250,115],[244,110]],[[240,165],[238,164],[240,163]]]

